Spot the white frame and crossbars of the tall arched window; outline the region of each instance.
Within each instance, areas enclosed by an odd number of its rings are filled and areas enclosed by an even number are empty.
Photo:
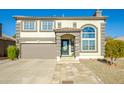
[[[82,31],[82,29],[84,29],[85,27],[92,27],[92,28],[94,28],[94,30],[95,30],[95,38],[82,38],[82,35],[83,35],[83,31]],[[91,52],[93,52],[93,51],[97,51],[97,49],[96,49],[96,47],[97,47],[97,38],[96,37],[98,37],[98,36],[96,36],[97,35],[97,30],[96,30],[96,28],[94,27],[94,26],[92,26],[92,25],[86,25],[86,26],[84,26],[83,28],[81,28],[81,51],[84,51],[84,52],[87,52],[87,51],[91,51]],[[95,49],[94,50],[83,50],[83,46],[82,46],[82,41],[83,40],[95,40]],[[89,45],[89,42],[88,42],[88,45]]]

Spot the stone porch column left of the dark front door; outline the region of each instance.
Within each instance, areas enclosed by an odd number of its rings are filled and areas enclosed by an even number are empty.
[[[59,35],[56,36],[56,43],[57,43],[57,61],[60,60],[61,56],[61,37]]]

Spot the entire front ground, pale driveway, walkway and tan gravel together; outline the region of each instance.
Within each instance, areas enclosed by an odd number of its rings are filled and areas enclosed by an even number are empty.
[[[117,66],[95,60],[58,63],[56,60],[2,60],[0,84],[124,84],[124,59]]]

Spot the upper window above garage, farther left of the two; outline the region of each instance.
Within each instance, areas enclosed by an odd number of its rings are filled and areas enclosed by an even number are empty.
[[[23,29],[24,30],[36,30],[36,21],[24,21],[23,23]]]

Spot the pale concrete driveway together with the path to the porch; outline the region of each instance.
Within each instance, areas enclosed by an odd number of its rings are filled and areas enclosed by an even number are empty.
[[[99,84],[89,68],[74,60],[0,60],[0,84]]]

